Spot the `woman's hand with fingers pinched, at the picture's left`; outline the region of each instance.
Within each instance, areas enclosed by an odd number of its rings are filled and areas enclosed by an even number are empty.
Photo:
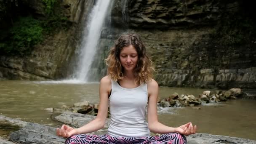
[[[75,135],[76,130],[70,126],[62,125],[61,128],[57,128],[56,135],[64,138]]]

